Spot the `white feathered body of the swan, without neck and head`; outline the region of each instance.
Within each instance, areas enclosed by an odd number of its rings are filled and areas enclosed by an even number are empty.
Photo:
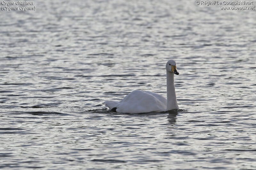
[[[109,109],[116,107],[119,113],[146,113],[153,111],[165,111],[167,100],[160,94],[134,90],[120,102],[106,101]]]

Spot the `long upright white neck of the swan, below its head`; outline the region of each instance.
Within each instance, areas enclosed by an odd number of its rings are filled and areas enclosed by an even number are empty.
[[[166,110],[179,109],[175,87],[174,87],[174,73],[166,71],[167,80],[167,108]]]

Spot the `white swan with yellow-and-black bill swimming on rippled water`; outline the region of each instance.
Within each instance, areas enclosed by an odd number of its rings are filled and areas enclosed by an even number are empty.
[[[167,100],[164,96],[149,92],[134,90],[121,101],[105,101],[104,104],[113,112],[118,113],[146,113],[179,109],[175,86],[174,74],[179,75],[176,62],[169,60],[166,63]]]

